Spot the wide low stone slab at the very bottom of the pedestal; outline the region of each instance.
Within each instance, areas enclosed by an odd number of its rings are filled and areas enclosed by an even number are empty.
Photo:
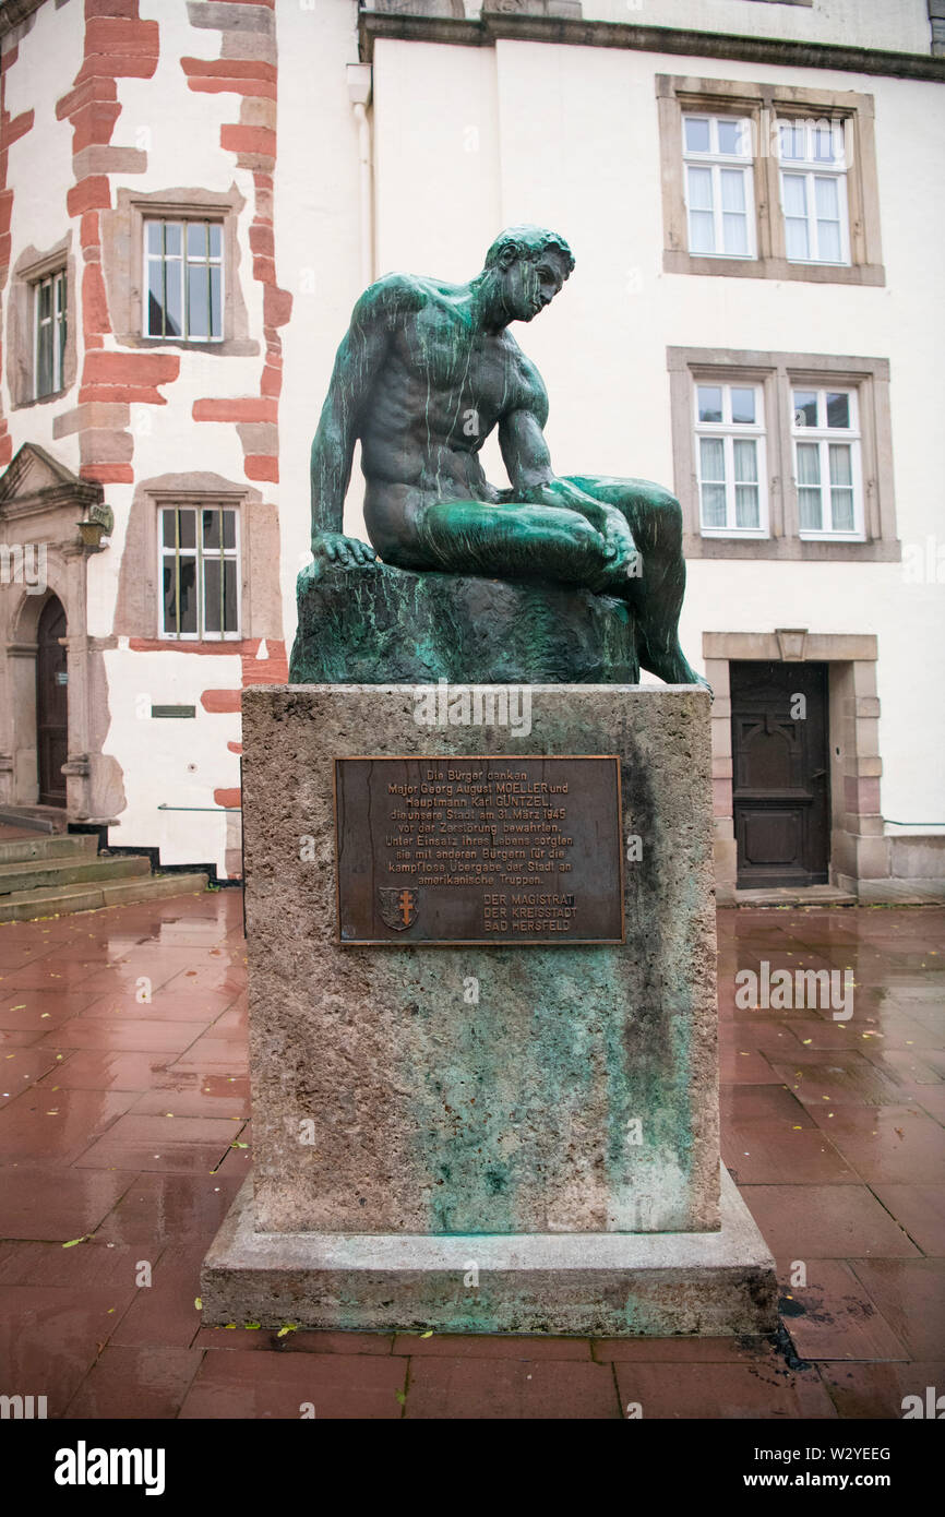
[[[261,1233],[252,1177],[203,1262],[203,1321],[714,1338],[777,1327],[774,1259],[722,1167],[699,1233]],[[466,1285],[478,1271],[478,1286]]]

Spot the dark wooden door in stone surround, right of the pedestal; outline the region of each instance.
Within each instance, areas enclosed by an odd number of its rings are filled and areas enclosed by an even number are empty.
[[[825,884],[827,664],[733,663],[730,677],[739,886]]]

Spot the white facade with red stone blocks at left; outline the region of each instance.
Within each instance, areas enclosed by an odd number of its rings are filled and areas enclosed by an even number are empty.
[[[12,21],[14,8],[5,11]],[[6,360],[0,466],[17,457],[21,476],[6,479],[6,537],[49,545],[49,589],[67,610],[68,816],[108,824],[112,845],[158,848],[165,865],[200,859],[220,875],[238,874],[240,693],[287,678],[276,492],[281,329],[293,302],[279,287],[273,240],[273,0],[190,9],[49,0],[18,11],[2,53],[5,297],[12,308],[17,279],[30,284],[36,261],[65,244],[74,352],[64,390],[41,400],[17,396]],[[232,328],[218,352],[141,337],[121,290],[141,284],[121,191],[182,215],[224,211],[224,278],[237,287],[228,322],[238,300],[240,341],[228,340]],[[30,338],[29,328],[20,334]],[[50,458],[65,478],[100,487],[114,513],[105,551],[74,551],[80,511],[64,507]],[[184,492],[238,505],[240,640],[159,636],[155,490],[161,501]],[[8,660],[0,745],[3,801],[14,806],[38,798],[35,711],[21,695],[41,599],[3,586],[8,642],[23,649]],[[194,716],[152,718],[167,705],[194,707]]]

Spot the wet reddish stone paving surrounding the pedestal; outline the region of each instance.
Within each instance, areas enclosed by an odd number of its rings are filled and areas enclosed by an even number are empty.
[[[937,909],[719,915],[724,1156],[790,1370],[771,1340],[202,1327],[252,1151],[238,894],[0,928],[5,1379],[52,1417],[901,1417],[945,1388],[943,936]],[[761,960],[851,966],[854,1016],[736,1007]]]

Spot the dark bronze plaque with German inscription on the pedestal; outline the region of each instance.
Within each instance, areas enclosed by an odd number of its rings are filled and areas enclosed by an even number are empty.
[[[620,765],[335,758],[341,944],[623,942]]]

